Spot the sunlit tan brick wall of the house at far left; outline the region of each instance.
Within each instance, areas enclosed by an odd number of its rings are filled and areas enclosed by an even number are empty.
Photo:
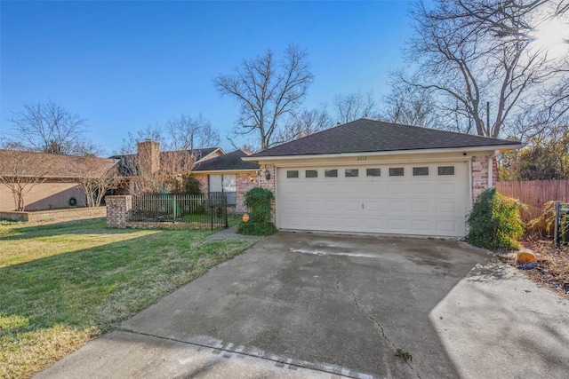
[[[24,195],[26,210],[68,208],[69,199],[76,199],[77,207],[87,205],[81,186],[76,183],[46,180],[37,184]],[[15,210],[16,205],[8,186],[0,184],[0,210]]]

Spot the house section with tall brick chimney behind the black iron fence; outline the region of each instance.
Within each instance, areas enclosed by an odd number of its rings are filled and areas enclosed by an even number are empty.
[[[123,188],[116,194],[136,194],[142,190],[141,183],[150,177],[173,177],[191,171],[199,162],[204,162],[225,152],[220,147],[207,147],[193,150],[160,151],[160,144],[146,140],[137,144],[136,154],[114,155],[118,160],[119,175],[126,178]]]

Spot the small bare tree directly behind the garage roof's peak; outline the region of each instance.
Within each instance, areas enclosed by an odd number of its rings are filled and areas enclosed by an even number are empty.
[[[340,123],[355,121],[359,118],[377,118],[373,91],[357,90],[348,95],[338,93],[334,96],[333,105]]]

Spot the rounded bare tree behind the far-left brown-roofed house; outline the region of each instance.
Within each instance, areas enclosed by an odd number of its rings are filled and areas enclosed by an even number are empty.
[[[8,144],[20,150],[49,154],[96,154],[85,136],[86,121],[52,100],[24,104],[12,114]]]

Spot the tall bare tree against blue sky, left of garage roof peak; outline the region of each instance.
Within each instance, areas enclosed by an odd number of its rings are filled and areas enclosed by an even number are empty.
[[[280,61],[268,50],[255,59],[244,59],[233,74],[219,75],[213,83],[222,96],[239,103],[236,134],[257,134],[260,149],[265,150],[275,145],[284,118],[296,114],[312,79],[306,51],[289,45]]]

